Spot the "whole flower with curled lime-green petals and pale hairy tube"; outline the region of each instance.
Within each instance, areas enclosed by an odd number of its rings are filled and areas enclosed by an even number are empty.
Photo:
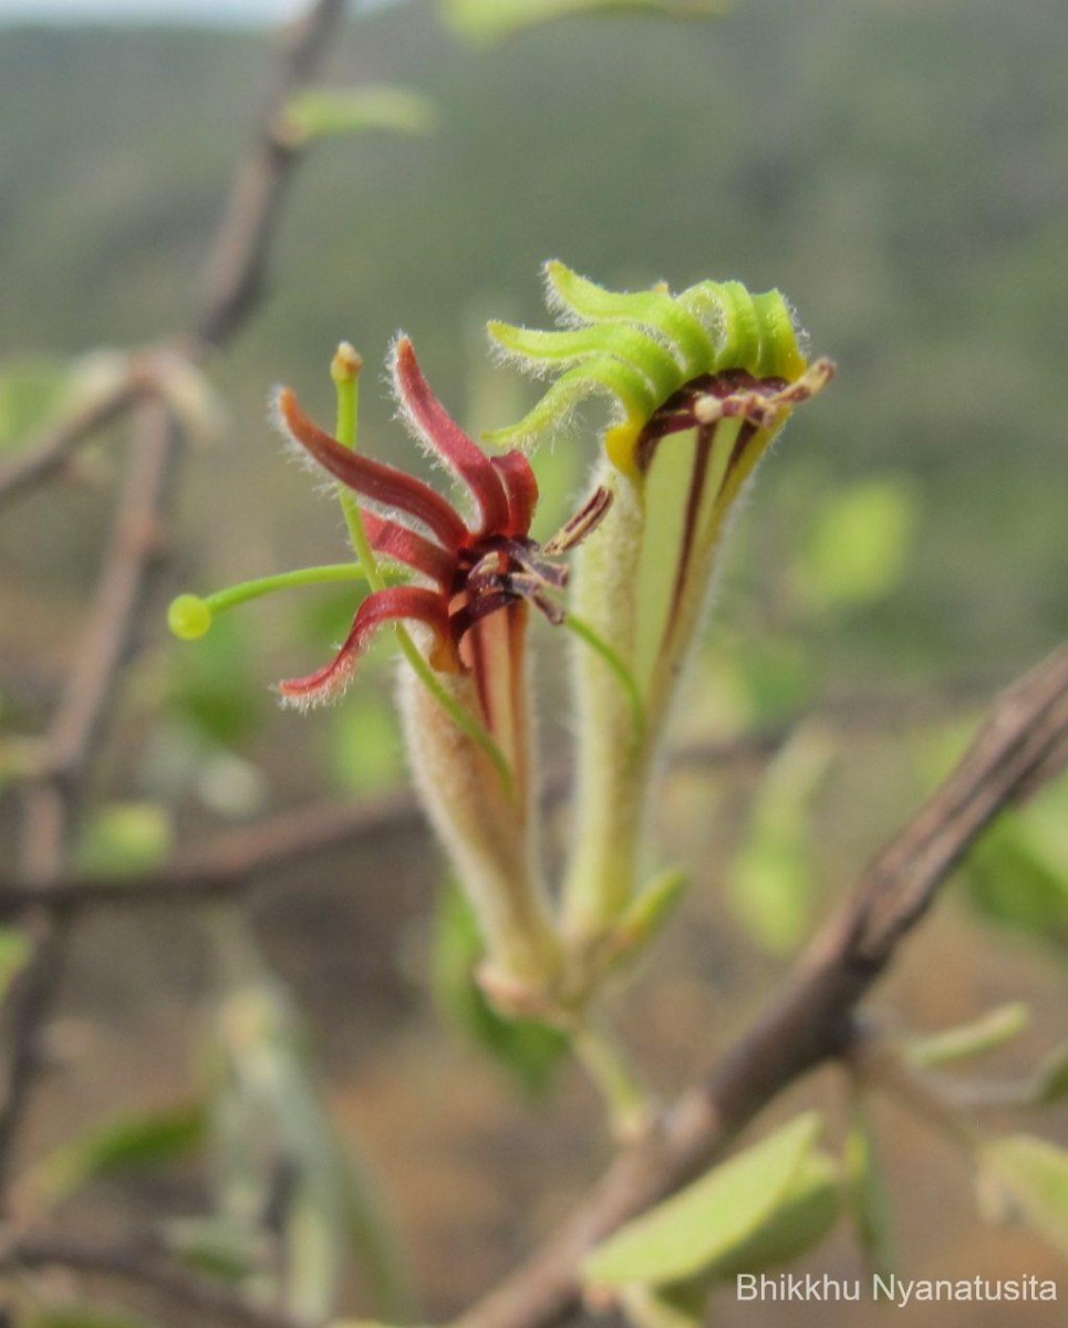
[[[546,266],[559,331],[490,324],[511,359],[558,376],[517,425],[490,437],[527,442],[566,424],[591,396],[614,418],[595,483],[614,495],[582,551],[573,604],[622,661],[644,722],[612,685],[603,656],[575,655],[578,794],[565,926],[596,971],[642,908],[643,833],[671,703],[679,689],[739,499],[794,406],[834,369],[809,365],[777,291],[703,282],[612,292],[562,263]]]

